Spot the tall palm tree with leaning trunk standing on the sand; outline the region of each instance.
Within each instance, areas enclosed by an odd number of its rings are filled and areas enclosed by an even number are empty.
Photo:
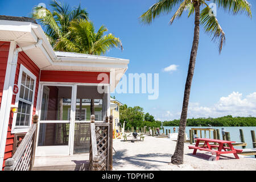
[[[150,24],[152,20],[158,17],[160,14],[170,13],[175,7],[177,10],[170,20],[170,24],[175,19],[179,18],[185,10],[188,10],[188,17],[191,14],[195,14],[195,29],[193,36],[193,44],[191,55],[189,59],[188,75],[185,84],[183,106],[180,116],[179,134],[177,138],[176,148],[174,155],[172,155],[171,163],[182,164],[184,155],[184,135],[185,126],[187,123],[188,103],[191,91],[191,84],[193,73],[196,63],[197,48],[199,45],[199,27],[200,24],[203,26],[205,32],[212,37],[214,42],[218,43],[218,50],[221,53],[222,46],[225,44],[225,33],[222,30],[216,16],[213,14],[213,10],[210,9],[207,2],[210,0],[158,0],[154,5],[150,7],[140,18],[143,23]],[[232,13],[234,15],[238,13],[245,13],[251,18],[250,4],[246,0],[216,0],[216,5]],[[200,11],[200,7],[203,10]]]

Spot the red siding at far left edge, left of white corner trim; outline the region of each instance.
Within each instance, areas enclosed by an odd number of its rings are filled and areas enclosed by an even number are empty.
[[[6,72],[9,48],[10,48],[10,42],[0,42],[0,106],[1,106],[2,95],[3,95],[3,84],[5,84],[5,72]]]

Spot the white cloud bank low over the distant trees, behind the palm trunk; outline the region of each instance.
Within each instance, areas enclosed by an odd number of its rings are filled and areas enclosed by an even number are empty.
[[[233,115],[233,117],[248,115],[256,116],[256,92],[242,97],[242,93],[233,92],[226,97],[221,97],[220,100],[212,106],[201,106],[198,102],[191,102],[188,106],[188,118],[199,117],[222,117],[224,115]],[[171,112],[162,110],[156,114],[156,118],[160,121],[170,121],[179,119],[180,112]]]

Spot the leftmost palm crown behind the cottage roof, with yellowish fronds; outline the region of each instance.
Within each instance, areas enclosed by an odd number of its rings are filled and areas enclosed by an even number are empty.
[[[45,7],[34,7],[32,17],[42,25],[49,42],[55,48],[56,41],[67,34],[70,23],[78,19],[88,20],[88,13],[81,5],[72,9],[69,5],[56,0],[52,0],[49,6],[52,11]]]

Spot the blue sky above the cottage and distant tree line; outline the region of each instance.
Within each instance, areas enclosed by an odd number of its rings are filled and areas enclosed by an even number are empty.
[[[221,115],[256,115],[256,3],[251,3],[253,18],[224,13],[217,9],[217,19],[225,31],[226,44],[221,55],[217,44],[200,29],[200,43],[193,77],[188,117]],[[141,106],[156,119],[180,117],[185,79],[193,39],[193,16],[187,13],[168,24],[173,12],[155,19],[150,26],[139,16],[155,0],[67,1],[81,2],[96,28],[102,24],[122,40],[124,50],[113,49],[106,56],[130,60],[128,73],[159,73],[159,97],[148,94],[113,94],[128,106]],[[0,14],[30,16],[32,7],[49,1],[0,1]],[[163,72],[172,64],[176,71]]]

